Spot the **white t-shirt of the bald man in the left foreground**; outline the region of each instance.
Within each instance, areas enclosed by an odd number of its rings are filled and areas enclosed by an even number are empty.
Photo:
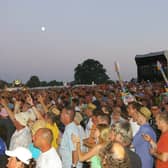
[[[62,168],[60,157],[53,147],[41,153],[37,159],[36,168]]]

